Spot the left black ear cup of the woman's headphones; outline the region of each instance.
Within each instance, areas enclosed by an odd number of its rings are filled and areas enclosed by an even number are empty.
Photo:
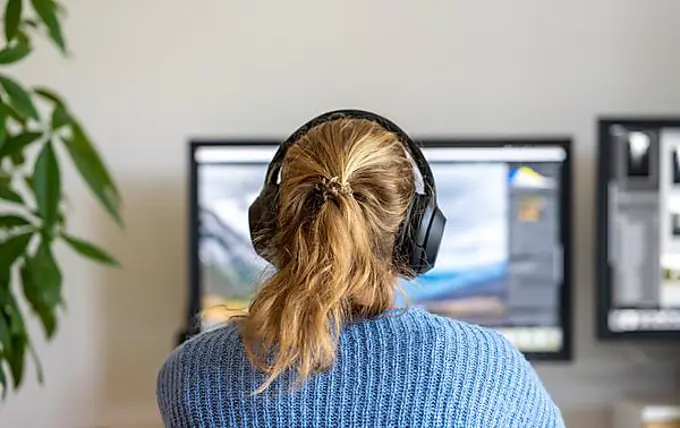
[[[279,186],[274,184],[262,188],[260,195],[248,208],[250,241],[255,252],[269,263],[273,263],[268,250],[276,230],[278,209]]]

